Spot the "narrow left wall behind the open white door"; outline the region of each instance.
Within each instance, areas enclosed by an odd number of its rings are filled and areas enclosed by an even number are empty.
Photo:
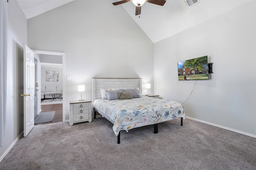
[[[7,107],[4,146],[0,160],[23,131],[23,46],[27,44],[27,20],[16,1],[8,4]]]

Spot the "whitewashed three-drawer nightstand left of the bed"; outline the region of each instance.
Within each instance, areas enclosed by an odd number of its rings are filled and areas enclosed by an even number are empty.
[[[69,125],[83,121],[92,121],[92,101],[70,101]]]

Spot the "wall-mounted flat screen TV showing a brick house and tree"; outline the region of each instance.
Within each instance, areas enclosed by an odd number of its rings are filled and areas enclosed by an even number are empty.
[[[209,80],[207,55],[178,62],[178,80]]]

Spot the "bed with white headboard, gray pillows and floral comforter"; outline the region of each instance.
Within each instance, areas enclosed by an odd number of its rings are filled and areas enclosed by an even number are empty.
[[[142,96],[141,82],[141,78],[92,78],[94,119],[96,119],[96,112],[98,112],[113,123],[113,131],[117,136],[118,144],[122,130],[129,131],[136,127],[154,125],[154,133],[158,133],[158,123],[178,117],[181,118],[181,126],[183,125],[185,113],[182,105],[170,100]],[[102,96],[101,90],[104,92],[110,90],[113,92],[111,92],[112,94],[117,91],[136,91],[139,96],[134,96],[135,94],[132,93],[132,99],[115,100],[116,98],[111,96],[106,99]]]

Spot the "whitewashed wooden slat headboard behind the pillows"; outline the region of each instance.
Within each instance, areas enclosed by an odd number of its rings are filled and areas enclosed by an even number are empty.
[[[140,88],[142,92],[141,78],[92,78],[92,102],[100,99],[100,88]]]

